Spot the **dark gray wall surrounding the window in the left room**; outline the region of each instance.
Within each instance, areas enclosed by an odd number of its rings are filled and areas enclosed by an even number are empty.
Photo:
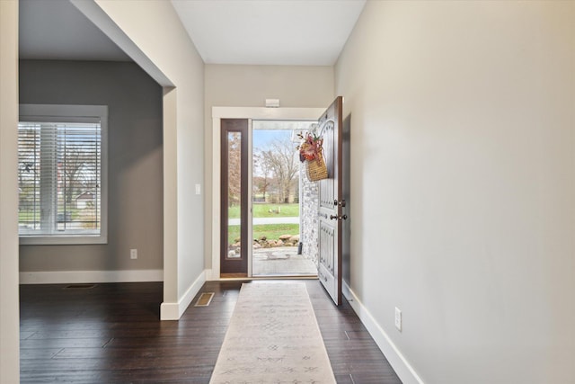
[[[20,103],[109,107],[108,244],[20,246],[20,271],[162,269],[160,85],[134,63],[22,60]]]

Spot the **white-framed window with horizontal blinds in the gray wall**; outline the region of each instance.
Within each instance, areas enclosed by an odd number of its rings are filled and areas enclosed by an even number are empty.
[[[21,105],[18,227],[23,244],[106,241],[106,118],[102,106]]]

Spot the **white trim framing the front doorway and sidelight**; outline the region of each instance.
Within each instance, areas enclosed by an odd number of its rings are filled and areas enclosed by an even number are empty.
[[[263,121],[316,121],[325,111],[321,108],[266,108],[266,107],[212,107],[212,182],[211,182],[211,271],[207,273],[206,280],[221,280],[220,275],[220,234],[221,234],[221,208],[220,208],[220,181],[221,181],[221,119],[248,119],[248,156],[252,158],[252,120]],[[295,149],[294,149],[295,150]],[[248,161],[249,185],[252,185],[252,161]],[[248,188],[248,220],[252,222],[252,191]],[[252,237],[251,232],[248,239]],[[252,241],[248,244],[251,244]],[[248,277],[252,276],[252,252],[248,248]]]

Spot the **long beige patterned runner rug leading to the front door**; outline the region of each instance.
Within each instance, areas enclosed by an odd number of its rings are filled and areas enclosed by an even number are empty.
[[[209,382],[335,383],[304,283],[242,285]]]

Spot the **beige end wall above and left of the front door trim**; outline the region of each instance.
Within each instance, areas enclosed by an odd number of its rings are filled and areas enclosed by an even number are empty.
[[[205,210],[212,206],[212,107],[264,107],[279,99],[284,108],[327,108],[335,98],[333,67],[207,64],[205,69]],[[318,116],[319,117],[319,116]],[[211,268],[212,218],[204,220],[205,263]]]

